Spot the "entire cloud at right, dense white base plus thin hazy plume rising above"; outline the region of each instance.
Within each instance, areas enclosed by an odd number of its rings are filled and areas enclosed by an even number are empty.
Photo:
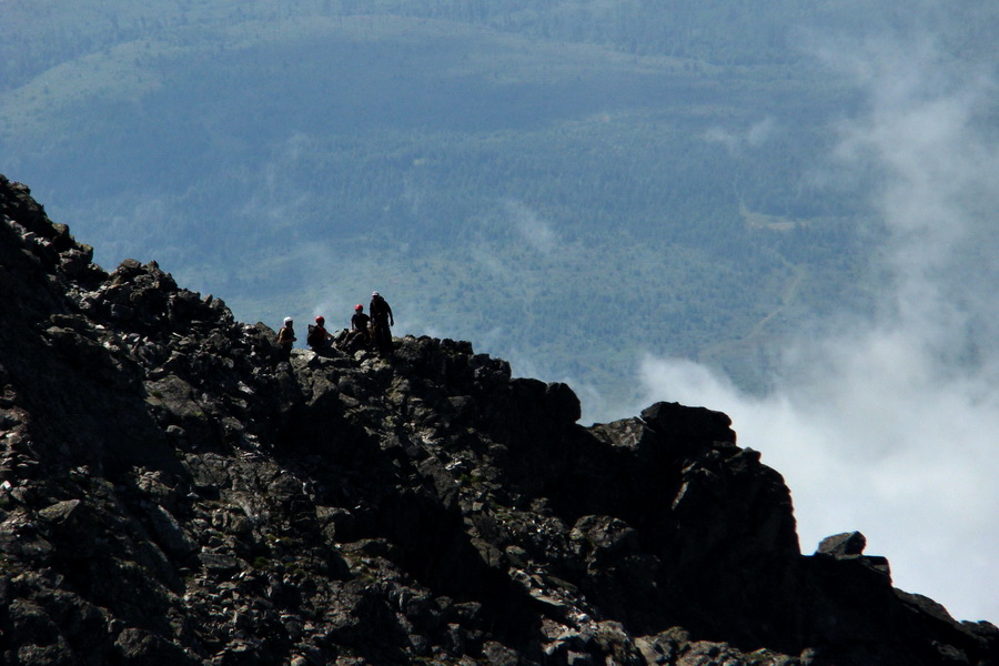
[[[733,417],[790,486],[803,552],[859,529],[896,586],[997,622],[999,147],[981,122],[993,72],[928,36],[826,46],[868,98],[841,121],[826,176],[877,175],[891,239],[876,321],[803,336],[763,398],[688,361],[648,357],[642,380],[648,401]]]

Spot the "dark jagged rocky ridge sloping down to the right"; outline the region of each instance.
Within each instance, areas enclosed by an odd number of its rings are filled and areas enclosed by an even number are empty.
[[[0,663],[999,663],[724,414],[582,427],[466,342],[279,361],[0,178]]]

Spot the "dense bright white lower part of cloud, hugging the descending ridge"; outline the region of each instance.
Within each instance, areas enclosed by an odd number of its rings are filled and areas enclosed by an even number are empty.
[[[842,365],[814,359],[823,381],[789,379],[766,397],[689,361],[649,357],[642,373],[650,400],[731,416],[739,444],[763,452],[791,488],[804,553],[859,529],[868,554],[889,558],[897,586],[958,618],[996,622],[995,395],[975,401],[971,384],[914,379],[894,341],[870,337],[848,353]]]

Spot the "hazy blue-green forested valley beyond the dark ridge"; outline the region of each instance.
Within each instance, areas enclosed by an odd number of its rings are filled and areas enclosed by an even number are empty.
[[[471,340],[632,400],[644,354],[764,391],[787,335],[870,314],[878,172],[835,36],[937,21],[995,58],[996,3],[0,1],[0,172],[97,248],[243,321]],[[107,265],[112,264],[112,265]]]

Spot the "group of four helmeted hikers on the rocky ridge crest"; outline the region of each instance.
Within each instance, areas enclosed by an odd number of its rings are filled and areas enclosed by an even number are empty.
[[[395,325],[395,316],[389,302],[379,292],[371,294],[371,304],[367,307],[370,314],[364,314],[364,306],[354,305],[354,316],[351,317],[351,327],[342,330],[337,335],[326,331],[326,320],[323,316],[315,317],[315,324],[309,325],[309,334],[305,344],[317,354],[337,349],[342,352],[353,353],[362,349],[374,349],[382,356],[392,355],[392,331]],[[281,357],[291,357],[291,350],[297,339],[295,337],[294,320],[284,317],[284,325],[278,331],[278,346]]]

